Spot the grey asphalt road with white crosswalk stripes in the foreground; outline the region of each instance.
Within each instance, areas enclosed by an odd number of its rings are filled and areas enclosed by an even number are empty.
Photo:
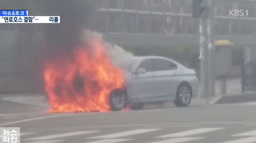
[[[49,114],[0,100],[0,127],[21,143],[256,143],[256,103],[109,113]]]

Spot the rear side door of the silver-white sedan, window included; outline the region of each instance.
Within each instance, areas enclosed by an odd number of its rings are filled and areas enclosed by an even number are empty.
[[[177,88],[177,64],[167,59],[153,58],[155,72],[155,90],[162,99],[174,99]]]

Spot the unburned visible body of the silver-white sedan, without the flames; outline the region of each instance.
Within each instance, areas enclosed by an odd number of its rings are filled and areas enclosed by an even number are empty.
[[[125,90],[110,93],[110,107],[119,111],[130,105],[141,109],[144,103],[174,101],[177,107],[188,106],[198,95],[195,71],[165,57],[134,57],[126,69]]]

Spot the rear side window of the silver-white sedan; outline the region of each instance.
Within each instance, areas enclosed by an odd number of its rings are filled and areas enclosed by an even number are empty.
[[[177,64],[165,59],[154,58],[152,63],[157,71],[177,70]]]

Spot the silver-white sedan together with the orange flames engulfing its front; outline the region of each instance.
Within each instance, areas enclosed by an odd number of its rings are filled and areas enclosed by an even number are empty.
[[[55,113],[140,109],[146,102],[187,106],[198,94],[194,70],[164,57],[135,57],[97,36],[47,59],[43,76]]]

